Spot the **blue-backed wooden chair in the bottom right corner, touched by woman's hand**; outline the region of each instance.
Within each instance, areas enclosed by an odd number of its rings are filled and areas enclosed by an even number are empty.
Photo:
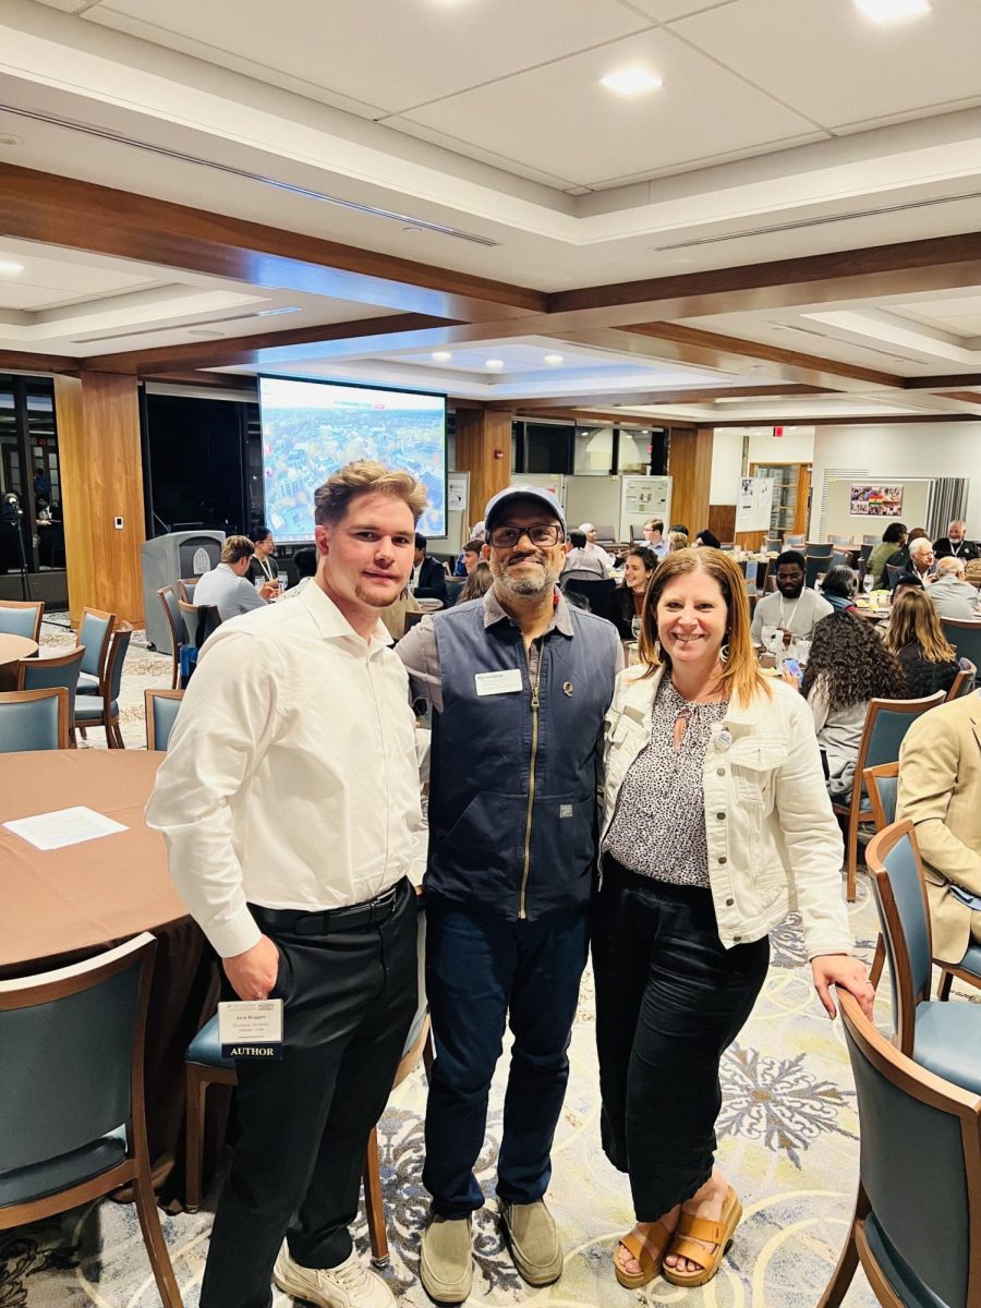
[[[837,991],[862,1137],[845,1248],[818,1308],[862,1264],[887,1308],[981,1308],[981,1099],[918,1067]]]

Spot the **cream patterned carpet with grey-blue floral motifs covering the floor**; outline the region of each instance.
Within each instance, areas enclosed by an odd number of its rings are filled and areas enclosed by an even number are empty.
[[[44,644],[71,644],[47,632]],[[123,734],[143,744],[143,689],[169,684],[169,661],[131,649],[123,683]],[[103,732],[93,730],[90,744]],[[866,959],[875,939],[875,910],[859,876],[853,906],[855,937]],[[883,1002],[888,985],[880,986]],[[599,1096],[594,1046],[593,980],[587,973],[570,1049],[572,1078],[559,1126],[549,1205],[562,1231],[566,1261],[561,1279],[531,1290],[502,1249],[493,1201],[494,1158],[501,1130],[501,1061],[479,1175],[488,1196],[475,1222],[477,1278],[471,1303],[500,1308],[513,1303],[549,1308],[612,1308],[629,1299],[691,1308],[812,1308],[837,1260],[855,1192],[858,1118],[840,1024],[827,1020],[810,985],[799,925],[787,922],[773,938],[773,967],[751,1022],[723,1063],[725,1107],[719,1159],[743,1198],[746,1215],[722,1271],[702,1290],[683,1291],[658,1279],[630,1294],[612,1278],[610,1257],[632,1226],[625,1177],[599,1148]],[[421,1188],[421,1070],[392,1093],[379,1124],[382,1184],[391,1243],[390,1283],[407,1305],[429,1303],[417,1281],[419,1237],[426,1196]],[[205,1211],[207,1209],[207,1211]],[[196,1308],[213,1211],[213,1196],[199,1214],[164,1216],[186,1308]],[[358,1247],[368,1249],[360,1222]],[[0,1308],[150,1308],[158,1296],[136,1214],[111,1202],[0,1235]],[[276,1304],[288,1304],[281,1295]],[[875,1303],[862,1273],[846,1308]]]

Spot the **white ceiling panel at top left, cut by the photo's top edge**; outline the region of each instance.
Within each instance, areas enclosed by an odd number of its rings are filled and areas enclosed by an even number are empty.
[[[88,18],[399,112],[642,30],[617,0],[111,0]],[[179,47],[174,38],[179,39]]]

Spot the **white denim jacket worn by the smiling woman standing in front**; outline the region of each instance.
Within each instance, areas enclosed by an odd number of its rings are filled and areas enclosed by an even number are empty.
[[[644,671],[620,672],[606,717],[603,837],[627,770],[650,743],[663,670],[646,680]],[[852,954],[844,845],[814,718],[800,696],[774,680],[772,698],[759,693],[748,706],[730,701],[723,721],[712,727],[704,787],[709,882],[726,948],[759,940],[799,912],[808,959]]]

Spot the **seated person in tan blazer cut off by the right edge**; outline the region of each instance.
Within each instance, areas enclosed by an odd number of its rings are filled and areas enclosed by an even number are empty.
[[[917,718],[900,749],[897,819],[916,825],[926,865],[934,957],[960,963],[981,943],[981,913],[950,884],[981,896],[981,695]]]

